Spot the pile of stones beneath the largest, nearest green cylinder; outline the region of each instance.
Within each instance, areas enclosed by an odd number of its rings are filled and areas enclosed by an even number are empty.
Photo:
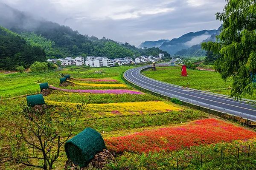
[[[105,164],[115,159],[113,154],[108,150],[104,149],[102,152],[97,153],[94,156],[94,158],[90,161],[87,167],[79,167],[78,165],[74,164],[72,161],[68,160],[65,164],[65,170],[90,170],[93,167],[102,169],[105,166]]]

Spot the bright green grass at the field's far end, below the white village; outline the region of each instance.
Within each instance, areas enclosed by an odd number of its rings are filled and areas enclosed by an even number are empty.
[[[48,82],[49,85],[59,87],[59,78],[61,74],[70,74],[74,78],[111,78],[120,83],[124,83],[121,74],[134,66],[120,66],[113,68],[81,68],[72,71],[51,71],[47,73],[14,73],[0,74],[0,97],[9,98],[14,96],[35,94],[40,91],[39,85],[35,82]],[[80,71],[81,70],[81,71]],[[102,82],[104,83],[104,82]],[[67,89],[111,89],[115,87],[90,87],[83,85],[67,86]],[[129,87],[120,87],[119,89],[131,89]]]

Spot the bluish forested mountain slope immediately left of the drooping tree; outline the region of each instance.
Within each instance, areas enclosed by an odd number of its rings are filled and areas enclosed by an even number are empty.
[[[215,34],[212,34],[210,37],[208,37],[206,40],[203,40],[202,42],[209,42],[209,41],[216,41],[216,36],[221,33],[220,26]],[[195,56],[206,56],[207,52],[201,49],[201,43],[197,45],[192,45],[190,48],[182,49],[180,51],[177,51],[175,56],[181,56],[181,57],[195,57]]]

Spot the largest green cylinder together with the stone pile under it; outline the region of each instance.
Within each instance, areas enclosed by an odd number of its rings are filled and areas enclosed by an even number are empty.
[[[65,144],[68,166],[73,170],[86,170],[87,167],[102,168],[108,160],[113,160],[112,153],[106,150],[105,142],[100,133],[86,128],[68,140]]]

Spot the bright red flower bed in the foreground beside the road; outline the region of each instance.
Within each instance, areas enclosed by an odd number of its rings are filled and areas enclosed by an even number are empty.
[[[105,139],[109,150],[142,153],[160,150],[179,150],[200,144],[230,142],[256,137],[256,133],[243,127],[217,119],[202,119],[178,127],[145,130],[128,136]]]

